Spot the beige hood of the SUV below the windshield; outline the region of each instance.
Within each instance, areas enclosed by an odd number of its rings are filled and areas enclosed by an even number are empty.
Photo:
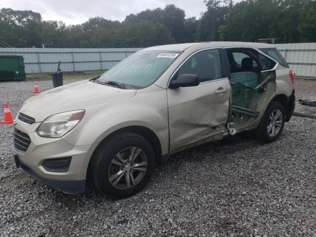
[[[21,113],[41,122],[45,118],[72,110],[132,97],[136,90],[120,89],[82,80],[56,87],[27,99]]]

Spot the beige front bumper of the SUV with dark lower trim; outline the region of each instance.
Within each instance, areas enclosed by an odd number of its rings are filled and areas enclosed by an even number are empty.
[[[15,129],[28,134],[31,143],[25,152],[12,149],[17,165],[34,178],[68,194],[83,194],[89,160],[98,144],[73,146],[63,138],[42,138],[37,134],[40,123],[32,125],[16,121]],[[71,157],[66,172],[50,172],[43,166],[47,159]]]

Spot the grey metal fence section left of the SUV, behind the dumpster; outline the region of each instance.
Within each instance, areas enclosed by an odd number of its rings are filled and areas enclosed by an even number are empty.
[[[26,73],[102,71],[140,48],[0,48],[0,54],[22,55]]]

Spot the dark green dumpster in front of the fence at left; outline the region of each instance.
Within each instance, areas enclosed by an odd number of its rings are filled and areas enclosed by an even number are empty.
[[[24,80],[24,58],[20,55],[0,55],[0,81]]]

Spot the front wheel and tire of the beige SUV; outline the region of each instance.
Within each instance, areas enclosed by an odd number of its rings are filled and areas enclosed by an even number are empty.
[[[100,144],[89,171],[99,192],[122,198],[144,188],[154,167],[155,153],[150,143],[137,134],[121,133]]]

